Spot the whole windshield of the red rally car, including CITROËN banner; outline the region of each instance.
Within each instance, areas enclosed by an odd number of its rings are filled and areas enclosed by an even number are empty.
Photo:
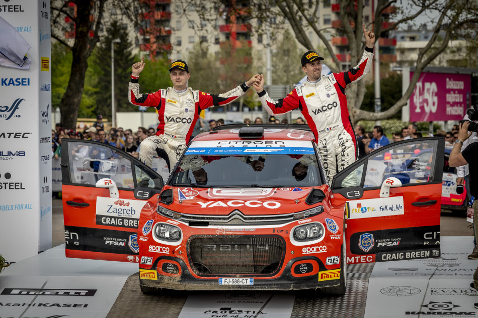
[[[323,181],[312,142],[196,141],[181,158],[172,186],[298,187]]]

